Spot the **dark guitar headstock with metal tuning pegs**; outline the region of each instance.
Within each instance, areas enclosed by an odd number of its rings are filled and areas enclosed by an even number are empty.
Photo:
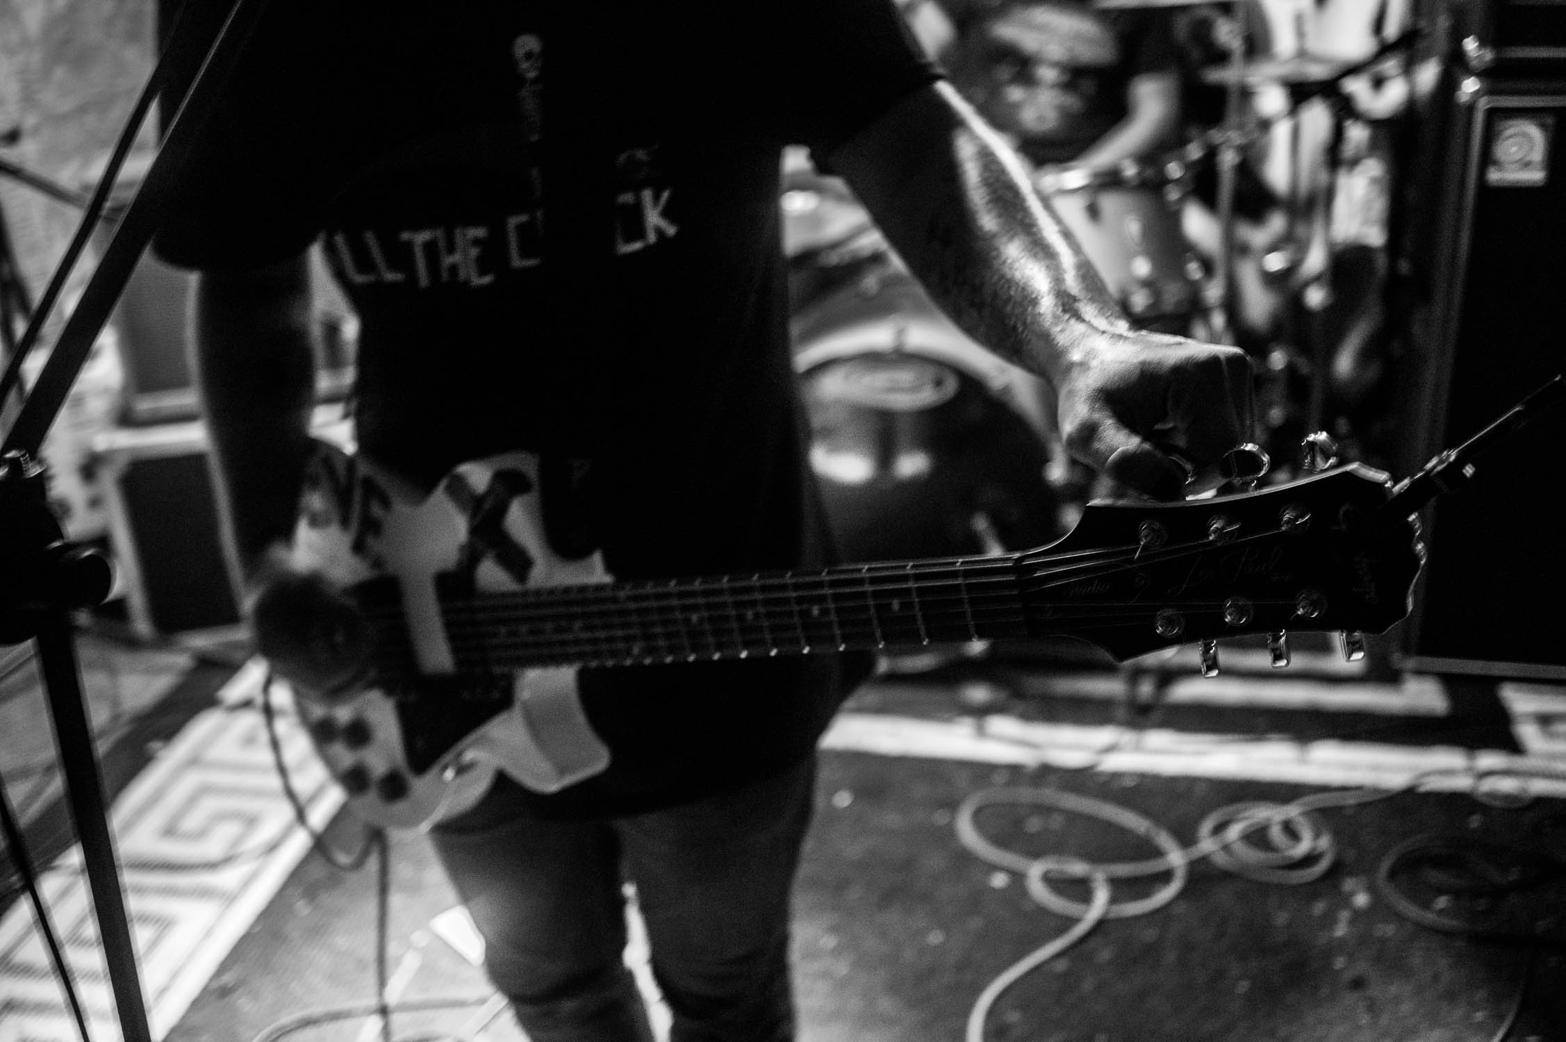
[[[1423,564],[1417,522],[1381,511],[1389,494],[1384,473],[1348,464],[1239,495],[1092,503],[1019,558],[1029,628],[1120,661],[1247,633],[1273,635],[1275,658],[1289,631],[1381,633]]]

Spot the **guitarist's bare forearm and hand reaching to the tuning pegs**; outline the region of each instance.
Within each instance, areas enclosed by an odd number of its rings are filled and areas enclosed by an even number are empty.
[[[1243,351],[1134,331],[1015,155],[944,83],[832,157],[935,302],[1038,373],[1077,458],[1156,495],[1248,440]]]

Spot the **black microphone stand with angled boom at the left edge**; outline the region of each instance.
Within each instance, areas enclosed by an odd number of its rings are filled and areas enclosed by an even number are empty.
[[[194,6],[200,5],[185,5],[185,8]],[[61,327],[49,362],[22,403],[5,443],[0,445],[0,644],[31,639],[38,646],[38,661],[55,721],[66,798],[81,841],[81,859],[124,1042],[152,1042],[152,1031],[119,882],[114,837],[103,801],[103,779],[81,697],[81,669],[70,622],[74,611],[99,605],[108,597],[111,570],[97,550],[64,537],[60,522],[49,508],[45,469],[39,464],[38,454],[132,270],[152,241],[160,215],[174,196],[175,182],[194,152],[202,127],[218,107],[222,86],[238,66],[240,53],[262,9],[265,0],[235,0],[211,42],[204,52],[196,52],[205,53],[205,60],[199,63],[188,94],[168,124],[163,147],[135,199],[119,215],[113,240],[103,251],[75,310]],[[166,83],[169,55],[175,49],[199,44],[189,39],[188,28],[185,33],[179,28],[175,24],[169,33],[171,44],[152,71],[144,102]],[[55,273],[49,287],[50,293],[45,295],[49,302],[58,296],[70,263],[91,233],[102,201],[113,188],[119,163],[149,107],[139,105],[132,124],[122,133],[121,144],[92,199],[92,208],[72,243],[74,249],[67,251],[61,270]],[[5,384],[14,381],[27,351],[36,343],[45,312],[47,306],[31,315],[14,356],[6,359]],[[61,971],[66,975],[61,984],[74,993],[69,967],[61,965]]]

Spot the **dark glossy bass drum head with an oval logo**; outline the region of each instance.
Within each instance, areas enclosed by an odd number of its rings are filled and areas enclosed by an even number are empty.
[[[844,561],[977,555],[1060,536],[1037,431],[979,379],[904,351],[800,374],[810,462]]]

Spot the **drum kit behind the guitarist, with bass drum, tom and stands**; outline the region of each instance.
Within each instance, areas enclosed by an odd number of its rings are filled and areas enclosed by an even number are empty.
[[[1259,118],[1250,94],[1283,88],[1290,111],[1311,99],[1337,99],[1344,77],[1383,63],[1408,42],[1405,34],[1362,61],[1251,56],[1243,13],[1250,2],[1093,2],[1104,11],[1232,5],[1239,27],[1231,60],[1200,74],[1225,91],[1218,127],[1149,161],[1052,166],[1034,177],[1040,197],[1137,327],[1237,343],[1236,315],[1243,312],[1236,299],[1236,172],[1276,121]],[[1337,143],[1334,133],[1334,149]],[[1212,212],[1220,235],[1215,249],[1200,252],[1184,215],[1193,177],[1207,163],[1217,175]],[[1331,185],[1325,196],[1284,202],[1289,237],[1264,259],[1268,285],[1286,287],[1275,291],[1320,299],[1308,290],[1330,274],[1330,260],[1304,271],[1303,260],[1319,243],[1297,240],[1301,227],[1306,240],[1315,240],[1325,226],[1319,215],[1331,208]],[[1065,456],[1043,384],[941,315],[852,191],[816,174],[802,154],[785,161],[781,215],[811,465],[841,550],[855,559],[968,555],[1038,545],[1068,531],[1085,497],[1104,492],[1102,479],[1095,486],[1095,476]],[[1328,426],[1322,385],[1330,348],[1286,343],[1284,365],[1262,353],[1262,382],[1268,373],[1308,374],[1304,389],[1298,379],[1257,387],[1261,423],[1278,428],[1279,439],[1297,437],[1297,428]],[[1257,431],[1256,440],[1267,445],[1268,431]],[[1289,456],[1284,450],[1279,476],[1290,475]]]

